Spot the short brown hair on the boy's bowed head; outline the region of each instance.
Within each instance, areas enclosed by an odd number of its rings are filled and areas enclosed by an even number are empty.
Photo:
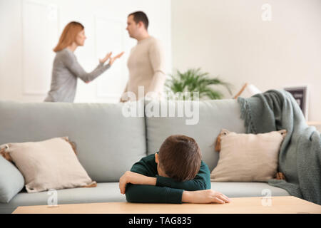
[[[198,143],[185,135],[170,135],[158,152],[161,169],[178,182],[192,180],[200,170],[201,159]]]

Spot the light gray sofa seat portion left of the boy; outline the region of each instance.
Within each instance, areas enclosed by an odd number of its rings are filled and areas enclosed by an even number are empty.
[[[16,207],[52,204],[54,194],[50,192],[20,192],[9,203],[0,203],[1,213],[12,213]],[[119,191],[118,182],[97,183],[97,187],[78,187],[56,190],[56,204],[82,204],[95,202],[126,202],[126,196]]]

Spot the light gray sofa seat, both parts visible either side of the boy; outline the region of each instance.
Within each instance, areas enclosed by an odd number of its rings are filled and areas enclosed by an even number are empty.
[[[97,187],[93,188],[74,188],[57,190],[56,192],[21,192],[11,199],[8,204],[0,203],[0,214],[12,213],[16,207],[19,206],[126,202],[126,196],[119,192],[118,187],[118,182],[109,182],[98,183]],[[230,198],[276,197],[289,195],[287,191],[278,187],[272,187],[264,182],[212,182],[212,190],[222,192]],[[56,199],[54,199],[54,197],[56,197]]]

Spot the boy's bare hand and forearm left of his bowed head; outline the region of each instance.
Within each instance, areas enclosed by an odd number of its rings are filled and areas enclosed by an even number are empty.
[[[119,179],[121,194],[125,194],[126,185],[156,185],[156,177],[146,177],[136,172],[126,171]]]

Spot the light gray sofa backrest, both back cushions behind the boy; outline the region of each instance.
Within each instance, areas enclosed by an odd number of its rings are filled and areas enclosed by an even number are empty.
[[[198,117],[191,117],[191,113],[185,111],[180,117],[182,102],[178,101],[146,101],[145,106],[141,101],[131,104],[137,109],[133,117],[123,115],[123,105],[126,105],[123,103],[0,101],[0,145],[68,136],[76,142],[78,160],[88,175],[96,182],[113,182],[141,157],[157,152],[169,135],[194,138],[203,160],[213,170],[218,163],[219,154],[214,148],[220,130],[245,133],[236,100],[200,101],[198,111],[196,108],[195,113],[193,111]],[[166,115],[162,114],[164,104]],[[183,108],[188,108],[186,104],[188,102],[183,103]],[[157,106],[158,110],[154,110]],[[175,110],[173,117],[169,115],[170,110]],[[188,125],[186,120],[195,124]]]

